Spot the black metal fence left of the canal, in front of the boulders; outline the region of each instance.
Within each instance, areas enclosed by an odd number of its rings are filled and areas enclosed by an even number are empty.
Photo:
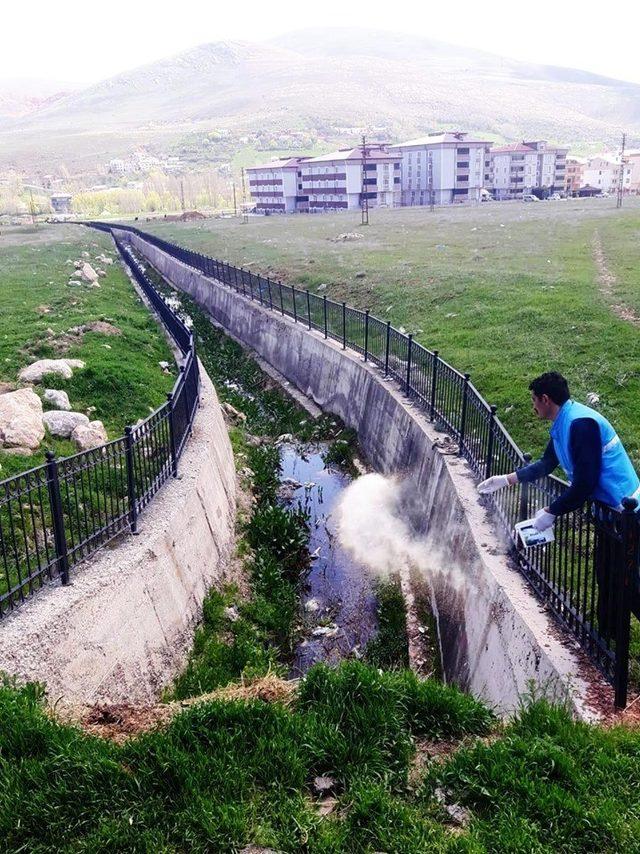
[[[108,231],[109,229],[104,229]],[[146,298],[183,355],[167,401],[125,435],[0,482],[0,617],[124,531],[160,486],[177,474],[191,431],[200,378],[193,336],[116,240]]]

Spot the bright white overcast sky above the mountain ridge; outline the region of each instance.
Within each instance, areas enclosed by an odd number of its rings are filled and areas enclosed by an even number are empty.
[[[409,32],[529,62],[640,83],[640,3],[590,9],[576,0],[4,0],[0,81],[50,78],[83,85],[219,40],[262,41],[314,26]]]

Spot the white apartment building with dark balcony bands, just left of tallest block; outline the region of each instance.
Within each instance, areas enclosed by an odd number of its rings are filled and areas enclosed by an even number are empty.
[[[400,159],[386,145],[343,148],[301,161],[298,210],[355,210],[363,193],[371,207],[395,207],[400,202]]]

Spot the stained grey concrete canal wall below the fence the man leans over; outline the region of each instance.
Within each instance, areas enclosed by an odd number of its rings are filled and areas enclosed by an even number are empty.
[[[443,453],[442,434],[362,357],[214,283],[137,235],[120,232],[178,289],[255,350],[324,411],[358,433],[372,466],[405,478],[408,515],[437,563],[429,575],[448,681],[497,712],[517,709],[532,686],[585,719],[608,686],[561,635],[509,557],[465,461]]]

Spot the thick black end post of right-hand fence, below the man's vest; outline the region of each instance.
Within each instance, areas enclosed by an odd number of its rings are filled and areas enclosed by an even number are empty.
[[[622,506],[622,565],[615,567],[618,581],[616,664],[613,676],[616,708],[627,705],[629,683],[629,637],[631,633],[631,601],[633,585],[638,572],[638,502],[623,498]]]

